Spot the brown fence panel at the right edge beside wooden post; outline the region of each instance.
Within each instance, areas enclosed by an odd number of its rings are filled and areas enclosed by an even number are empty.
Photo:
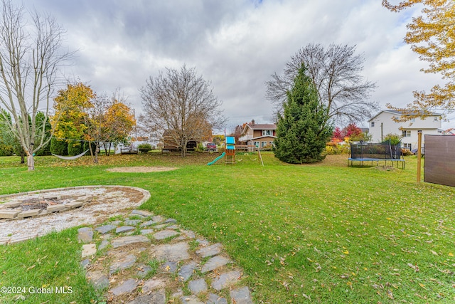
[[[455,136],[425,135],[425,182],[455,187]]]

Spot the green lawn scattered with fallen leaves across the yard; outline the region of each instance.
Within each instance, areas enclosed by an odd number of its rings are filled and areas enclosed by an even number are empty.
[[[348,167],[346,155],[321,164],[289,165],[264,153],[262,167],[257,155],[245,154],[234,166],[222,161],[205,165],[215,157],[115,155],[101,157],[96,166],[89,157],[73,162],[37,157],[35,172],[18,166],[14,157],[0,157],[0,194],[87,184],[147,189],[151,199],[141,208],[223,243],[244,269],[257,303],[455,301],[455,190],[416,184],[415,157],[407,157],[405,170],[388,171]],[[105,171],[137,165],[179,169]],[[53,239],[70,233],[74,230],[39,239],[41,250],[58,252]],[[79,278],[77,246],[68,248],[76,262],[63,269],[43,272],[36,267],[24,273],[38,256],[23,257],[21,265],[8,262],[34,251],[33,242],[0,246],[0,272],[14,273],[0,276],[0,285],[21,282],[29,273],[33,276],[24,281],[29,284],[55,285],[60,277],[71,279],[70,274]],[[63,273],[57,276],[57,271]],[[96,300],[84,282],[75,279],[71,284]],[[43,295],[37,303],[46,299]],[[73,299],[85,303],[74,295],[63,302]]]

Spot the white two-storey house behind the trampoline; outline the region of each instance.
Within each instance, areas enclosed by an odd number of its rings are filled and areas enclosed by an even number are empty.
[[[395,122],[395,117],[400,117],[402,112],[395,110],[382,110],[368,120],[370,134],[373,142],[382,142],[387,134],[397,134],[402,137],[402,147],[417,149],[417,133],[422,131],[422,146],[424,135],[441,135],[441,114],[432,112],[427,117],[416,117],[407,122]]]

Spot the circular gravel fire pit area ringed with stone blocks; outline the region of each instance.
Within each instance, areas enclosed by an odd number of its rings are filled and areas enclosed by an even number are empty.
[[[144,189],[89,186],[0,196],[0,244],[95,224],[150,198]],[[3,203],[3,204],[2,204]]]

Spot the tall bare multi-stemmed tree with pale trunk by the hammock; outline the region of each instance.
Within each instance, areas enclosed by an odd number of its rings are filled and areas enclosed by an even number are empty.
[[[51,95],[59,65],[71,53],[60,48],[64,31],[53,17],[34,11],[30,24],[23,6],[2,0],[1,9],[0,103],[11,114],[8,127],[21,142],[31,171],[33,153],[50,141],[44,129]],[[36,120],[38,111],[43,111],[44,120]]]

